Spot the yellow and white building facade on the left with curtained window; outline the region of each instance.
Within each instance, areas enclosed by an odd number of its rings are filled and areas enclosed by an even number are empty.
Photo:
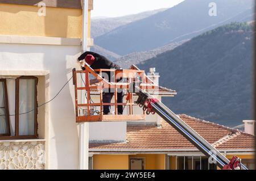
[[[93,43],[81,2],[0,1],[0,169],[79,169],[72,69],[84,32]]]

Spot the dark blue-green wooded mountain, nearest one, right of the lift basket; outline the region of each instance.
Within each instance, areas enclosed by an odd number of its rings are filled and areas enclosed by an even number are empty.
[[[137,66],[155,67],[175,113],[228,125],[253,118],[253,26],[232,23],[203,33]]]

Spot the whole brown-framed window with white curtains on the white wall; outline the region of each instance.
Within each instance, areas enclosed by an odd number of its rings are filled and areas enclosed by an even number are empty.
[[[1,116],[0,119],[0,133],[6,132],[7,129],[9,131],[8,134],[0,134],[0,140],[8,140],[8,139],[30,139],[30,138],[37,138],[38,137],[38,123],[37,123],[37,115],[38,115],[38,103],[37,103],[37,85],[38,85],[38,78],[36,77],[27,77],[22,76],[16,78],[15,80],[8,80],[6,86],[6,80],[2,81],[3,87],[5,87],[5,106],[2,106],[1,100],[3,99],[0,95],[0,103],[1,103],[1,110],[0,112],[5,111],[5,115],[9,115],[8,108],[6,105],[7,103],[7,89],[8,85],[12,85],[15,83],[14,86],[10,86],[13,89],[10,90],[11,93],[15,94],[15,113],[11,116]],[[9,83],[9,84],[8,84]],[[1,90],[0,84],[0,90]],[[14,90],[15,89],[15,90]],[[3,91],[0,91],[3,92]],[[15,92],[15,93],[14,93]],[[11,102],[12,103],[12,102]],[[2,108],[3,107],[3,108]],[[14,110],[13,110],[14,111]],[[2,114],[0,114],[2,115]],[[6,118],[7,117],[7,118]],[[7,124],[7,126],[6,126]]]

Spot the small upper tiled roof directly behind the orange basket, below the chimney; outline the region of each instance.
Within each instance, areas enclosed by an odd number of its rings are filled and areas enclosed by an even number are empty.
[[[90,85],[91,86],[98,86],[98,80],[97,79],[91,79],[90,80]],[[155,86],[154,88],[149,87],[148,89],[145,90],[149,94],[159,94],[159,95],[176,95],[175,90],[168,89],[166,87],[161,87],[161,86]],[[91,89],[90,90],[91,94],[99,94],[100,90],[99,89]]]

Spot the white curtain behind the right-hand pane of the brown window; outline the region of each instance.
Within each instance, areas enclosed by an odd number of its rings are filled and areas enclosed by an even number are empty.
[[[19,80],[19,113],[26,113],[35,108],[35,80]],[[35,111],[19,115],[19,135],[34,135]]]

